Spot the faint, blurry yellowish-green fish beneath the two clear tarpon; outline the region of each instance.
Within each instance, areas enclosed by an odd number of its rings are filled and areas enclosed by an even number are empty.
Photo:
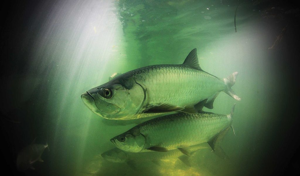
[[[205,144],[197,144],[188,147],[189,151],[194,154],[200,149],[208,148]],[[170,150],[169,152],[142,152],[132,153],[125,152],[118,148],[113,148],[101,154],[101,156],[110,162],[127,163],[131,168],[136,168],[136,163],[153,162],[160,165],[161,159],[178,158],[187,166],[191,166],[188,157],[183,155],[179,150]]]

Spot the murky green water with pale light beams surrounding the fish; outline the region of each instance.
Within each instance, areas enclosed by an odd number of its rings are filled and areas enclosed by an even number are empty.
[[[236,11],[236,16],[235,16]],[[299,7],[286,1],[45,0],[1,6],[1,158],[11,175],[285,175],[299,173]],[[235,31],[236,26],[236,31]],[[111,74],[182,64],[219,78],[238,71],[236,102],[220,93],[214,109],[233,126],[222,148],[158,166],[106,161],[110,138],[137,125],[103,119],[80,96]],[[35,170],[16,158],[36,138],[49,144]]]

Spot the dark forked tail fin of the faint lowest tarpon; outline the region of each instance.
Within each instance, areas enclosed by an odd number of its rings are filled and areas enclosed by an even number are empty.
[[[224,129],[218,135],[216,135],[214,138],[212,138],[210,141],[207,142],[210,145],[213,152],[217,156],[220,156],[223,159],[229,159],[229,157],[226,155],[226,153],[221,148],[220,143],[222,142],[222,140],[223,140],[224,136],[226,135],[226,133],[228,132],[229,128],[230,127]]]

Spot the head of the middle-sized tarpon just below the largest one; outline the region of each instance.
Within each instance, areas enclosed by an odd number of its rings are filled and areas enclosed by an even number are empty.
[[[110,139],[110,141],[126,152],[140,152],[144,149],[146,137],[135,126],[127,132]]]

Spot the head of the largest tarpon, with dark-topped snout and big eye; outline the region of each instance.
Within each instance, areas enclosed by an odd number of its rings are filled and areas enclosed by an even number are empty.
[[[126,120],[139,113],[144,102],[144,89],[128,74],[90,89],[81,95],[83,103],[105,119]]]

